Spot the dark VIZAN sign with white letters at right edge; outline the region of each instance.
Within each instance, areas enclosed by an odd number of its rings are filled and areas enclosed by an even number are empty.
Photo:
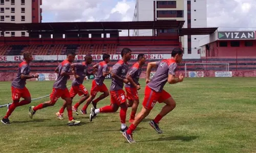
[[[255,39],[255,32],[218,32],[218,39]]]

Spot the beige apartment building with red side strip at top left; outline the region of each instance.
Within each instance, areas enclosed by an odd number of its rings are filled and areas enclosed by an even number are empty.
[[[42,0],[1,0],[0,1],[0,23],[39,23],[42,20]],[[1,36],[20,37],[28,36],[25,31],[5,33]]]

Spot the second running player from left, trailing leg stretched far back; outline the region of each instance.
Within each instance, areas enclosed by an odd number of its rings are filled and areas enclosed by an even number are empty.
[[[50,101],[47,101],[45,103],[41,103],[37,105],[36,107],[31,106],[29,108],[29,117],[33,118],[33,115],[37,110],[54,106],[56,101],[59,97],[64,99],[67,103],[67,110],[68,110],[68,116],[69,116],[69,123],[68,125],[76,125],[79,124],[80,121],[74,120],[73,114],[72,114],[72,99],[70,97],[69,90],[67,88],[67,81],[70,78],[70,75],[73,75],[74,73],[71,70],[71,63],[75,60],[75,53],[74,52],[68,52],[67,53],[67,59],[62,61],[61,64],[57,67],[55,71],[58,72],[58,78],[53,84],[52,93],[50,95]]]

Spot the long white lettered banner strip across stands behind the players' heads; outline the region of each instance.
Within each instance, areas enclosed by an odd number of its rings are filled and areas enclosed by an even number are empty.
[[[92,55],[93,60],[102,60],[102,55]],[[83,60],[86,55],[77,55],[76,60]],[[137,60],[138,54],[132,55],[132,60]],[[149,60],[162,60],[168,59],[171,57],[170,54],[145,54],[146,59]],[[57,61],[57,60],[65,60],[67,58],[66,55],[35,55],[33,56],[34,61]],[[111,55],[111,60],[120,60],[122,59],[121,55]],[[23,56],[0,56],[1,61],[22,61]]]

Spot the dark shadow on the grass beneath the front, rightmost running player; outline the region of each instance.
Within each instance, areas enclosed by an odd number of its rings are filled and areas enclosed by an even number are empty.
[[[182,140],[182,141],[191,141],[199,138],[198,136],[162,136],[158,139],[153,140],[145,140],[145,141],[138,141],[138,142],[151,142],[151,141],[174,141],[174,140]]]

